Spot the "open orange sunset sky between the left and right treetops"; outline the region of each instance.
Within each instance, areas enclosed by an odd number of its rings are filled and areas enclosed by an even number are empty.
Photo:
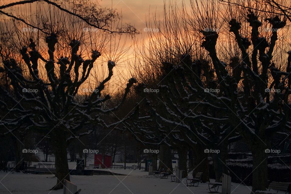
[[[19,0],[0,0],[0,5],[4,5],[11,2],[17,2]],[[120,61],[115,61],[115,59],[108,59],[105,57],[105,59],[98,59],[99,61],[96,66],[96,71],[94,72],[95,75],[92,78],[89,79],[89,82],[100,82],[103,80],[108,74],[107,74],[107,63],[108,60],[113,60],[116,62],[116,67],[114,68],[114,76],[112,80],[110,81],[111,92],[116,91],[118,88],[124,88],[125,83],[131,76],[135,76],[132,72],[132,67],[134,65],[134,59],[135,54],[138,52],[135,52],[136,45],[142,46],[144,48],[147,48],[147,35],[148,33],[145,32],[145,28],[147,27],[147,22],[150,20],[152,21],[153,18],[155,18],[157,21],[164,19],[164,4],[166,4],[166,9],[169,10],[169,0],[91,0],[92,2],[96,1],[101,5],[102,7],[107,8],[113,8],[118,13],[122,15],[122,23],[130,23],[133,25],[140,34],[136,35],[133,39],[131,38],[122,38],[121,45],[125,45],[128,49],[127,52],[123,55],[124,57]],[[207,0],[203,0],[207,2]],[[173,0],[172,5],[177,5],[178,8],[185,5],[185,9],[188,11],[190,10],[190,0]],[[199,2],[199,1],[198,1]],[[32,9],[33,6],[35,6],[35,3],[31,5]],[[18,10],[18,9],[16,9]],[[22,8],[22,10],[25,10]],[[33,16],[34,17],[34,16]],[[262,28],[263,29],[263,28]],[[80,29],[82,30],[82,29]],[[162,31],[162,30],[161,30]],[[188,31],[187,31],[188,32]],[[154,32],[158,33],[158,32]],[[223,37],[223,36],[220,36]],[[143,42],[145,41],[145,42]],[[114,43],[113,43],[114,44]],[[110,49],[109,49],[110,50]],[[135,53],[134,53],[135,52]],[[102,57],[105,56],[108,53],[101,53]],[[102,58],[101,57],[101,58]],[[100,65],[102,64],[102,65]],[[136,63],[138,64],[138,63]],[[136,65],[135,64],[135,65]],[[100,71],[101,69],[101,71]],[[96,77],[98,79],[96,79]]]

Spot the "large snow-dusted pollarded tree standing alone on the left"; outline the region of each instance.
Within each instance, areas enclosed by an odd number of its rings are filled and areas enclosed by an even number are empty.
[[[38,18],[33,18],[33,10],[25,13],[24,16],[30,15],[24,17],[27,20],[5,12],[7,7],[33,2],[40,14]],[[67,142],[91,133],[92,130],[86,129],[88,124],[105,128],[116,125],[107,125],[101,115],[118,109],[135,83],[135,79],[129,80],[119,105],[104,107],[104,102],[111,98],[103,93],[113,76],[115,62],[111,60],[116,58],[108,56],[107,76],[106,69],[96,67],[101,50],[106,51],[107,46],[108,36],[102,34],[104,31],[110,32],[110,36],[112,33],[134,34],[135,29],[114,25],[119,18],[115,12],[97,10],[98,6],[89,1],[66,2],[66,9],[63,4],[45,2],[52,6],[48,6],[49,14],[38,1],[0,7],[3,14],[12,18],[11,21],[2,18],[7,22],[3,22],[1,28],[1,74],[9,87],[0,87],[2,110],[7,113],[0,125],[5,126],[1,132],[4,135],[19,129],[22,132],[34,130],[50,138],[57,178],[53,189],[60,189],[64,179],[69,180]],[[23,23],[27,28],[19,30]],[[115,29],[112,30],[112,26]],[[88,28],[94,30],[87,32]],[[96,72],[103,73],[101,81]],[[88,79],[90,83],[86,82]],[[87,95],[80,95],[80,88]]]

